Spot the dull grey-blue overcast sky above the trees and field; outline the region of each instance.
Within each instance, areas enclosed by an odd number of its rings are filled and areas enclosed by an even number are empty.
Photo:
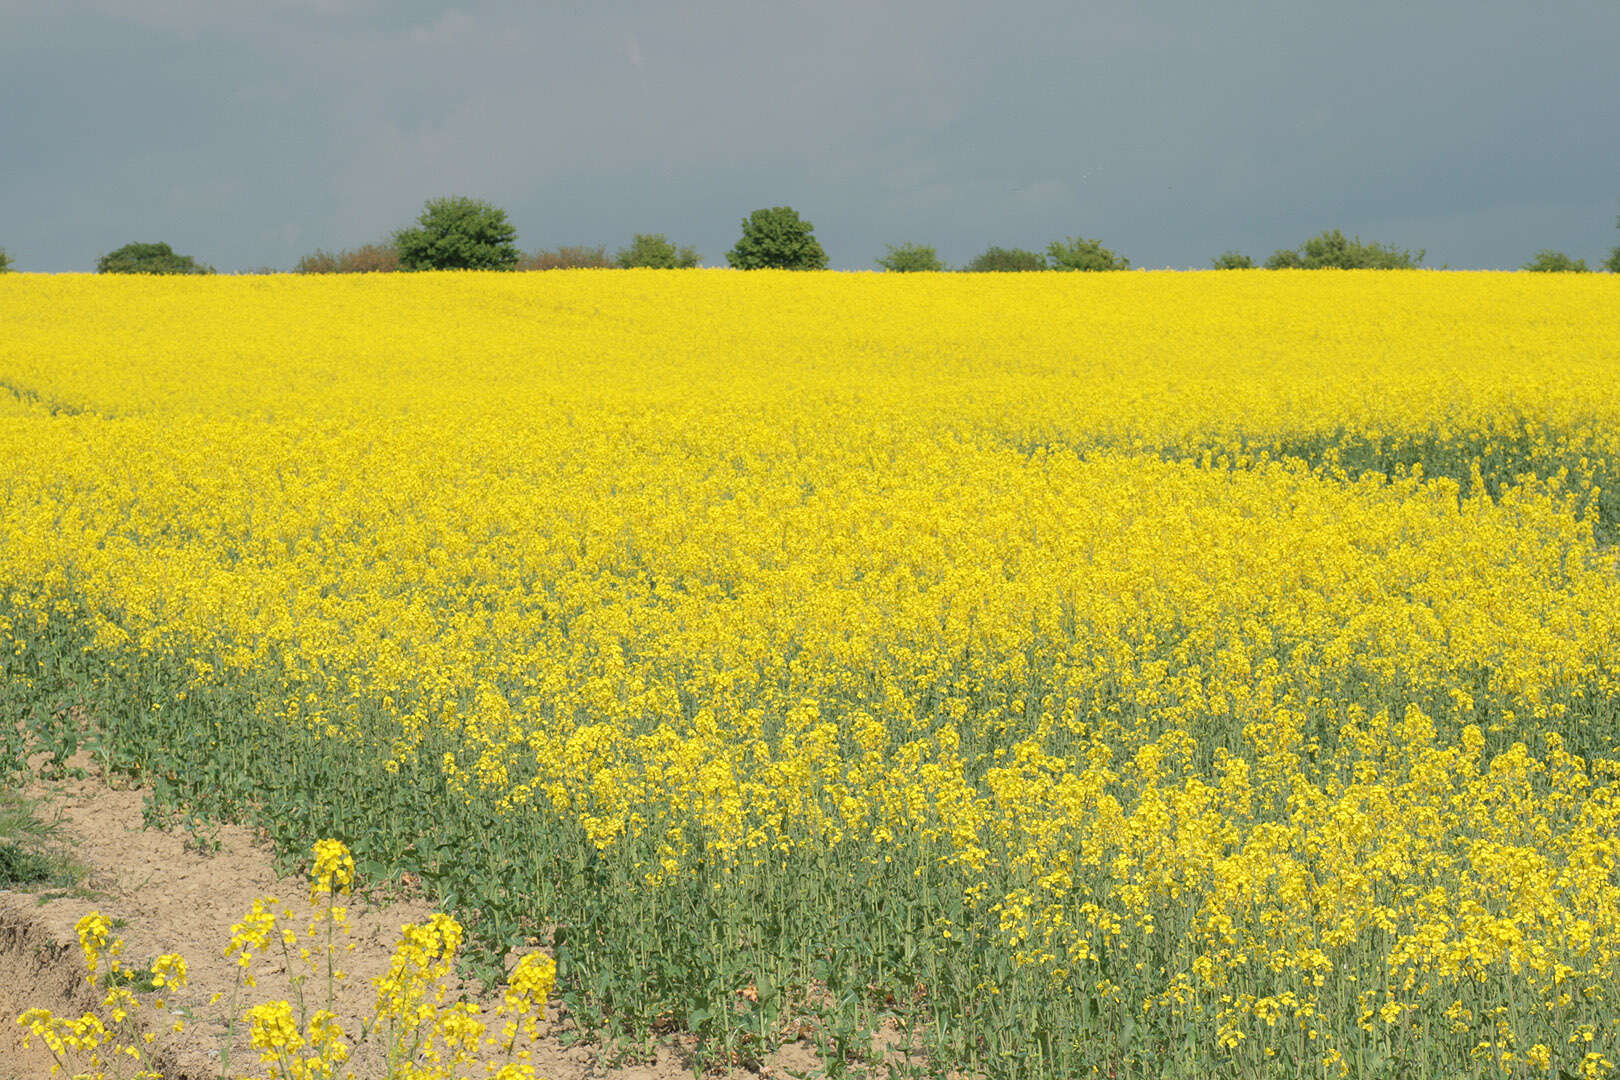
[[[292,267],[504,207],[525,251],[724,266],[787,204],[839,269],[1095,236],[1132,266],[1330,227],[1427,266],[1620,230],[1617,0],[0,0],[0,248]]]

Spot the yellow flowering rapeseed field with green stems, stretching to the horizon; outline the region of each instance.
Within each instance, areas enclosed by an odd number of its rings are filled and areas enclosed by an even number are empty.
[[[1612,275],[0,279],[5,750],[729,1061],[1610,1075],[1617,533]]]

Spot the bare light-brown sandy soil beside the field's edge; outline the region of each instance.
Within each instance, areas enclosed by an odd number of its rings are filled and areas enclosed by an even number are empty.
[[[87,759],[75,764],[91,769]],[[28,793],[40,800],[44,816],[60,814],[62,832],[91,876],[84,889],[66,894],[62,889],[0,891],[0,1080],[32,1080],[50,1072],[52,1059],[37,1043],[32,1051],[19,1048],[21,1028],[13,1020],[23,1009],[47,1007],[79,1015],[94,1004],[75,934],[78,920],[92,910],[122,920],[117,933],[125,939],[125,960],[139,963],[164,952],[178,952],[186,959],[191,986],[173,994],[168,1006],[172,1010],[190,1009],[194,1020],[180,1035],[152,1027],[156,1059],[170,1080],[214,1080],[227,1031],[224,1006],[237,976],[235,962],[224,955],[230,926],[241,920],[256,897],[264,895],[288,902],[295,912],[308,912],[308,881],[279,878],[267,847],[238,826],[211,829],[211,844],[204,847],[217,842],[217,850],[207,853],[196,850],[183,829],[143,827],[144,793],[109,785],[94,772],[84,779],[36,782]],[[360,899],[352,902],[350,941],[355,950],[342,965],[352,975],[347,989],[339,994],[337,1010],[345,1030],[355,1030],[356,1017],[369,1014],[374,1001],[369,980],[387,970],[400,926],[420,923],[429,915],[431,908],[421,900],[384,905]],[[285,970],[279,963],[266,960],[254,970],[259,972],[254,1004],[288,996]],[[209,999],[215,993],[224,999],[211,1007]],[[601,1046],[569,1044],[567,1025],[559,1022],[556,1002],[546,1028],[544,1038],[531,1049],[539,1077],[674,1080],[695,1075],[685,1052],[692,1043],[679,1035],[659,1044],[651,1062],[612,1065],[612,1054]],[[360,1077],[376,1075],[364,1067],[364,1059],[356,1061]],[[246,1044],[232,1051],[233,1075],[256,1070],[256,1054]],[[815,1051],[805,1043],[794,1043],[776,1051],[763,1070],[729,1075],[787,1080],[821,1074]]]

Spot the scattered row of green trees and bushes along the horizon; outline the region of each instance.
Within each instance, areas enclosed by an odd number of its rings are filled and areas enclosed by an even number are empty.
[[[1617,222],[1620,225],[1620,222]],[[1393,244],[1364,243],[1359,236],[1327,230],[1298,248],[1272,253],[1264,264],[1241,251],[1223,251],[1210,261],[1217,270],[1244,270],[1264,266],[1270,270],[1411,270],[1424,259],[1424,251],[1406,251]],[[517,228],[505,210],[483,199],[447,196],[428,199],[413,225],[397,230],[387,241],[363,244],[347,251],[316,249],[298,259],[295,274],[382,274],[395,270],[562,270],[582,267],[651,267],[688,269],[701,266],[695,248],[676,244],[663,233],[635,233],[630,243],[612,256],[606,246],[556,248],[523,254],[517,248]],[[815,227],[787,206],[761,207],[742,219],[742,235],[726,253],[727,266],[739,270],[784,269],[821,270],[826,251],[815,238]],[[11,257],[0,248],[0,272],[10,270]],[[896,272],[949,270],[932,244],[886,244],[876,266]],[[1053,240],[1045,251],[991,246],[961,270],[1029,272],[1029,270],[1128,270],[1131,261],[1110,251],[1100,240],[1069,236]],[[1549,274],[1586,274],[1584,259],[1571,259],[1562,251],[1537,251],[1521,270]],[[1599,266],[1620,274],[1620,244]],[[178,254],[165,243],[131,243],[104,254],[96,262],[100,274],[212,274],[214,267],[191,256]]]

